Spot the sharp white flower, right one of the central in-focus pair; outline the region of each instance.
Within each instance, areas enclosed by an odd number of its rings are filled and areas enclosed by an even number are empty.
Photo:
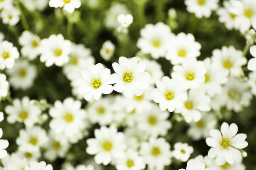
[[[145,63],[139,62],[136,57],[127,59],[119,57],[119,63],[112,64],[115,74],[112,74],[112,81],[116,83],[114,91],[123,93],[131,99],[134,95],[140,96],[143,90],[149,87],[151,76],[145,71]]]

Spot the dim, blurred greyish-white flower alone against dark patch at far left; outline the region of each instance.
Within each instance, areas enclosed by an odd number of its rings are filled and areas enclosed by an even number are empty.
[[[10,76],[9,82],[12,87],[23,91],[32,87],[37,76],[36,66],[27,60],[17,60],[14,67],[6,72]]]

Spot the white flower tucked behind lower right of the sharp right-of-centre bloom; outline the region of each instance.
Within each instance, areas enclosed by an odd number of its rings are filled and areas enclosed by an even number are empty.
[[[198,122],[201,119],[201,111],[210,111],[211,98],[203,90],[190,90],[188,99],[183,102],[181,108],[177,108],[175,113],[181,113],[187,123]]]

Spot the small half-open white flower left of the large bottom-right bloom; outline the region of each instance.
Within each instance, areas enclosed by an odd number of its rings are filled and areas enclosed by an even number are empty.
[[[181,143],[181,142],[175,143],[174,150],[172,151],[173,157],[183,162],[188,161],[189,157],[193,152],[194,152],[194,149],[192,146],[189,146],[189,144],[187,143]]]

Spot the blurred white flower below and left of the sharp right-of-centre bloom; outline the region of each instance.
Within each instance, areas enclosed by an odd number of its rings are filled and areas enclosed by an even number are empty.
[[[172,128],[172,123],[168,120],[170,113],[161,111],[157,105],[152,105],[151,109],[140,114],[137,119],[137,126],[148,136],[166,136],[168,130]]]

